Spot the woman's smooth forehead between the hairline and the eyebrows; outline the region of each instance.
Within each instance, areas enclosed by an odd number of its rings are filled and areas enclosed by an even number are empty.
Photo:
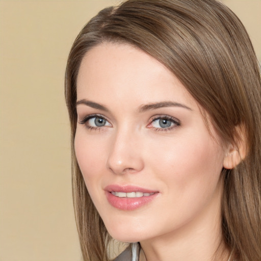
[[[155,58],[130,44],[103,43],[87,52],[77,76],[77,99],[109,97],[194,103],[177,77]],[[88,97],[86,97],[88,96]]]

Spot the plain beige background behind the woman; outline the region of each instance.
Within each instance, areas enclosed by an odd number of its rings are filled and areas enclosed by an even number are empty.
[[[77,261],[63,77],[84,23],[118,1],[0,1],[0,260]],[[261,1],[224,1],[261,60]]]

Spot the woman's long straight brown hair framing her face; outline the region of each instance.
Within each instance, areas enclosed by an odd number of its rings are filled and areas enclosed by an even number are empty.
[[[72,188],[84,260],[109,260],[110,236],[97,213],[74,153],[76,79],[82,59],[102,42],[139,47],[170,69],[210,115],[224,144],[240,141],[245,159],[223,169],[223,240],[237,261],[261,260],[261,83],[249,36],[238,17],[215,0],[129,0],[100,11],[77,36],[65,77],[71,122]]]

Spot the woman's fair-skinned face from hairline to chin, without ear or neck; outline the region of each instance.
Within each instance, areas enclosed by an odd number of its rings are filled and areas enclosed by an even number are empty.
[[[160,62],[128,44],[92,48],[77,115],[76,158],[113,238],[145,241],[217,219],[224,152]]]

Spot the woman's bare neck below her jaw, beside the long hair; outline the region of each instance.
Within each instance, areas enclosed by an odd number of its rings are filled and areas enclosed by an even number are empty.
[[[140,260],[227,261],[230,251],[222,241],[221,195],[175,231],[140,242]],[[217,205],[219,207],[217,207]]]

